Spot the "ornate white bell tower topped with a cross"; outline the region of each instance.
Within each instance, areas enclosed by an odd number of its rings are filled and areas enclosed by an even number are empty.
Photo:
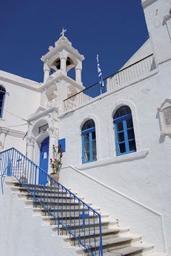
[[[65,32],[62,28],[55,47],[50,46],[49,52],[41,58],[44,62],[44,82],[40,86],[42,108],[47,108],[53,101],[53,105],[62,110],[64,100],[85,88],[81,82],[84,56],[72,46]],[[70,69],[75,69],[75,80],[68,76]]]

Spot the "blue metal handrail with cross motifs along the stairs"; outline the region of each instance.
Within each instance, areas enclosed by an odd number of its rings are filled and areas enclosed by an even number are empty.
[[[47,184],[40,184],[42,173]],[[57,235],[66,230],[91,255],[103,256],[100,213],[15,148],[0,152],[0,176],[4,175],[14,176],[33,196],[34,206],[39,203],[55,219]]]

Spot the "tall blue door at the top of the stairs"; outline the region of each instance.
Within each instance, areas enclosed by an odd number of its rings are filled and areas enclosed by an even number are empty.
[[[46,172],[48,171],[48,161],[49,161],[49,137],[44,139],[41,143],[40,148],[40,168],[44,170],[42,172],[40,170],[39,176],[38,176],[38,184],[46,185],[48,182]]]

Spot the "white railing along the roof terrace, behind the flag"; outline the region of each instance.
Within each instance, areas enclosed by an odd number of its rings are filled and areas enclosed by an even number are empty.
[[[139,78],[142,78],[143,75],[147,75],[150,71],[153,71],[156,68],[155,58],[153,54],[151,54],[150,56],[133,63],[133,65],[121,69],[117,73],[114,73],[114,75],[105,78],[103,80],[105,86],[102,89],[100,88],[99,83],[96,83],[83,91],[68,97],[68,99],[64,100],[64,110],[68,111],[77,106],[81,106],[92,100],[94,97],[101,95],[101,93],[109,92],[116,89],[118,86],[124,86],[133,82],[133,80],[138,80]]]

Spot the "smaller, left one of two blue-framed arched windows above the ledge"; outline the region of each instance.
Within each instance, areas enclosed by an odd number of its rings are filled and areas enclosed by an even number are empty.
[[[92,119],[83,124],[81,137],[83,163],[96,161],[96,130]]]

